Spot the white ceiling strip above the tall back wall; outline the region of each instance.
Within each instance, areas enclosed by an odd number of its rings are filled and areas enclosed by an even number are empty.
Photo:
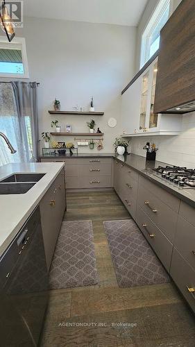
[[[147,0],[24,0],[24,15],[137,26]]]

